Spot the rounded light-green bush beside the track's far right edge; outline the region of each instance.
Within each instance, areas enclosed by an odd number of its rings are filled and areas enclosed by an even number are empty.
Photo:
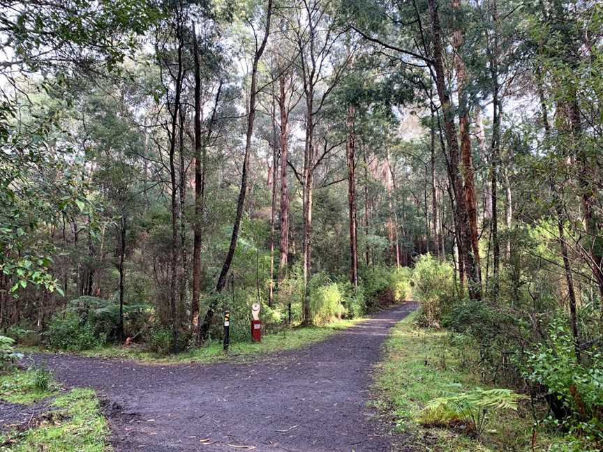
[[[413,292],[421,302],[418,321],[424,326],[439,326],[454,300],[452,266],[431,254],[422,255],[412,273]]]

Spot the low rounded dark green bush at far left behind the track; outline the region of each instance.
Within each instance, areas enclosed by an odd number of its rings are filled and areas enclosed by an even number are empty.
[[[105,343],[105,338],[94,331],[94,325],[80,319],[72,311],[55,314],[50,320],[46,336],[51,349],[68,352],[93,349]]]

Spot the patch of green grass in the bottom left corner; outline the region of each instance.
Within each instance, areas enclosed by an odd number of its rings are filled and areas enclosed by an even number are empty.
[[[0,451],[103,452],[109,426],[91,389],[73,389],[52,402],[55,410],[34,428],[0,436]]]

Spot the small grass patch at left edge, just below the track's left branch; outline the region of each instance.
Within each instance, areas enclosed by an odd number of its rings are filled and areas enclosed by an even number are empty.
[[[54,396],[57,386],[53,382],[40,384],[36,372],[42,370],[13,370],[0,374],[0,399],[12,403],[29,404]]]

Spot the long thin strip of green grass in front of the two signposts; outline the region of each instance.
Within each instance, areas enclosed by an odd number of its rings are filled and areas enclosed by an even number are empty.
[[[295,327],[283,329],[278,333],[265,334],[262,342],[232,342],[228,354],[223,352],[222,342],[211,342],[203,347],[197,347],[186,352],[164,356],[148,352],[137,345],[120,347],[111,345],[100,349],[79,352],[83,356],[99,358],[133,359],[143,363],[170,364],[170,363],[217,363],[221,361],[251,361],[258,356],[283,352],[290,349],[306,347],[315,342],[320,342],[334,333],[349,328],[352,325],[366,320],[364,318],[343,319],[324,326]],[[39,352],[40,349],[20,348],[20,352]]]

